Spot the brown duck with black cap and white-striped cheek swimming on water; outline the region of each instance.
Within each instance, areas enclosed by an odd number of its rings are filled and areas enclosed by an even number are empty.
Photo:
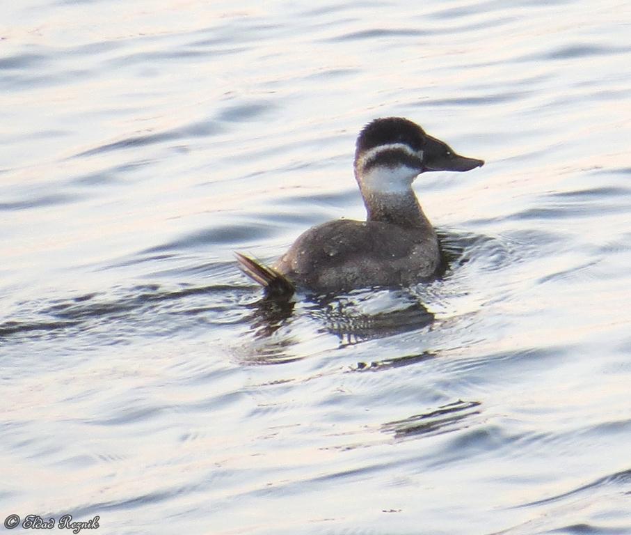
[[[413,180],[425,171],[469,171],[482,164],[457,155],[407,119],[376,119],[360,132],[355,152],[367,221],[314,226],[274,267],[237,253],[239,267],[271,295],[291,295],[296,286],[336,293],[431,279],[440,270],[440,248]]]

